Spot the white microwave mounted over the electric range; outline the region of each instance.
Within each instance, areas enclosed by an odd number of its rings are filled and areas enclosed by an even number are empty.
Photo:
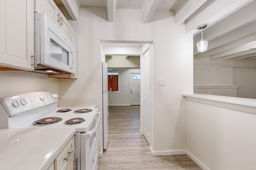
[[[34,72],[76,73],[76,47],[46,14],[34,13],[34,45]]]

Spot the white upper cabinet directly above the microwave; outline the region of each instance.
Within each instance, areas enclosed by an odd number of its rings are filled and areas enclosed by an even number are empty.
[[[71,39],[71,25],[53,0],[34,0],[34,12],[46,14]]]

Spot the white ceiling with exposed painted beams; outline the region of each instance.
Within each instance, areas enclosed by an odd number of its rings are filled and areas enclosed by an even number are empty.
[[[194,57],[200,59],[256,59],[256,0],[77,0],[83,7],[106,8],[108,21],[114,21],[116,8],[139,9],[143,23],[157,10],[172,10],[176,24],[184,24],[194,35]],[[157,18],[157,17],[156,17]],[[160,17],[158,17],[160,18]],[[208,51],[198,53],[201,24]],[[248,55],[247,55],[248,54]]]

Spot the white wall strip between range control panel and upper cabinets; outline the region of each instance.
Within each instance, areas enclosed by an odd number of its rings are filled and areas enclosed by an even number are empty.
[[[58,94],[58,79],[26,71],[0,71],[0,98],[36,91]]]

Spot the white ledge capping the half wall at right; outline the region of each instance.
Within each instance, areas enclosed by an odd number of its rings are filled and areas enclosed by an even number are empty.
[[[207,104],[225,109],[241,111],[245,113],[256,114],[256,99],[237,98],[228,96],[216,96],[209,94],[182,94],[182,96],[191,102]]]

